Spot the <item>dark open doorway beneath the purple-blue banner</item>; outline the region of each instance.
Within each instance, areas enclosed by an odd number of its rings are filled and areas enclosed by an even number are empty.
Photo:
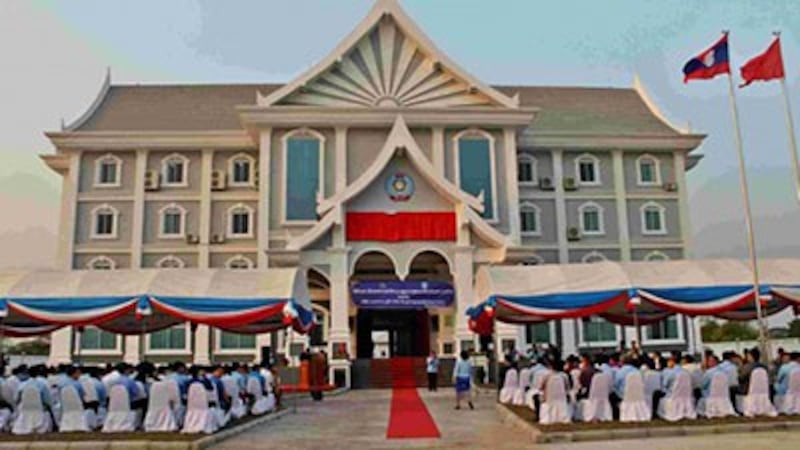
[[[358,358],[372,358],[373,331],[389,333],[387,357],[426,356],[430,352],[430,317],[426,309],[359,309],[356,323]]]

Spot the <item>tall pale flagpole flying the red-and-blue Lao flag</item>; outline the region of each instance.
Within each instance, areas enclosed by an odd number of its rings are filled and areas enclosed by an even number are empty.
[[[736,95],[733,89],[733,76],[728,73],[728,94],[730,96],[731,117],[733,118],[734,138],[736,141],[736,153],[739,158],[739,181],[742,187],[742,199],[744,202],[745,224],[747,226],[747,247],[750,252],[750,268],[753,272],[753,301],[756,304],[756,318],[758,320],[758,337],[761,343],[764,358],[769,359],[767,354],[767,336],[764,330],[764,320],[761,314],[761,297],[759,295],[760,282],[758,274],[758,259],[756,256],[755,233],[753,231],[753,214],[750,208],[750,189],[747,185],[747,172],[745,170],[744,150],[742,148],[742,131],[739,128],[739,110],[736,107]]]

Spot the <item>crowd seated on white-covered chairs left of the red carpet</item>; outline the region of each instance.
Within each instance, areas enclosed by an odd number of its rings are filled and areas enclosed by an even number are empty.
[[[272,411],[279,397],[267,364],[21,365],[0,376],[0,432],[213,433],[231,419]]]

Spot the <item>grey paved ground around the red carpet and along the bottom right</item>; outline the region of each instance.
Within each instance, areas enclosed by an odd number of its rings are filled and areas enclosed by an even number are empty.
[[[494,399],[478,397],[476,410],[453,410],[453,393],[419,391],[439,426],[441,439],[386,439],[390,390],[352,391],[327,397],[322,403],[303,399],[297,414],[228,439],[215,450],[249,449],[389,449],[389,448],[533,448],[529,436],[504,425],[496,413]],[[782,450],[797,449],[800,433],[750,433],[647,439],[642,441],[587,442],[545,445],[551,450]]]

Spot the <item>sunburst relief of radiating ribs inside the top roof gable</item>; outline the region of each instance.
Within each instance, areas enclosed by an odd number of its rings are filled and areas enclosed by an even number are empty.
[[[441,108],[485,106],[492,101],[442,67],[385,16],[333,67],[282,103]]]

